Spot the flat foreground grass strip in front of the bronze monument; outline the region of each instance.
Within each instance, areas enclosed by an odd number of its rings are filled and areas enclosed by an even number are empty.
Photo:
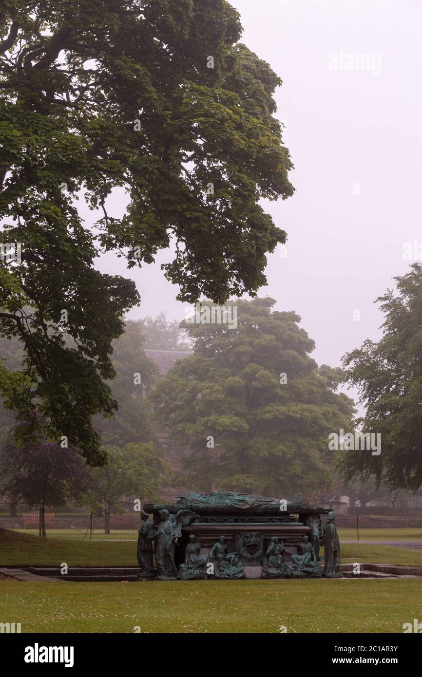
[[[2,621],[22,632],[403,632],[421,583],[390,580],[48,583],[0,580]],[[391,643],[391,642],[390,642]]]

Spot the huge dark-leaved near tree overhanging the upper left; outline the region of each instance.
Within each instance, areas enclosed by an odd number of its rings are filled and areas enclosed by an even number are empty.
[[[18,439],[37,434],[39,410],[51,437],[102,463],[91,419],[117,407],[110,344],[139,297],[94,269],[98,247],[131,267],[173,242],[163,269],[182,300],[255,293],[286,238],[259,199],[293,193],[281,81],[238,42],[225,0],[8,0],[0,25],[0,218],[22,247],[0,262],[0,332],[26,353],[22,372],[1,368],[0,393]]]

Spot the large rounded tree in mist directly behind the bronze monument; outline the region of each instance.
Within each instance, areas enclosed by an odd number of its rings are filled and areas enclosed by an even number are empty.
[[[161,423],[190,446],[185,481],[195,489],[288,498],[331,484],[328,435],[350,426],[352,400],[335,393],[342,371],[310,357],[299,316],[274,303],[230,301],[237,328],[188,324],[194,354],[150,393]]]

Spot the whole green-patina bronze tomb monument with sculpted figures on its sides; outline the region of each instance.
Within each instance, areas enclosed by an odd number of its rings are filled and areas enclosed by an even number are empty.
[[[146,504],[144,508],[138,538],[143,578],[341,576],[334,513],[311,505],[299,494],[279,500],[234,492],[209,496],[191,492],[175,504]],[[153,523],[146,521],[146,513],[152,513]],[[323,529],[321,515],[328,518]],[[318,563],[320,545],[324,545],[324,570]]]

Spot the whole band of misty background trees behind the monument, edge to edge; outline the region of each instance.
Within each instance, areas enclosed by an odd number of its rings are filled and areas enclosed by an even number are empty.
[[[63,449],[45,437],[17,445],[10,440],[14,418],[0,408],[0,491],[12,504],[61,506],[82,495],[87,500],[89,477],[89,503],[102,504],[108,515],[123,495],[151,498],[161,483],[175,482],[205,492],[314,497],[335,485],[352,502],[394,506],[422,482],[422,265],[413,264],[377,301],[383,336],[345,355],[344,369],[318,366],[299,316],[274,310],[274,299],[230,301],[236,327],[178,323],[164,313],[126,321],[112,344],[110,387],[119,410],[96,419],[108,464],[89,468],[77,447]],[[192,355],[159,378],[148,347]],[[23,356],[15,336],[0,339],[0,357],[12,373]],[[347,381],[360,390],[362,418],[354,418],[354,402],[338,391]],[[188,450],[178,476],[158,441],[164,427]],[[356,427],[381,432],[379,456],[329,451],[331,431]]]

